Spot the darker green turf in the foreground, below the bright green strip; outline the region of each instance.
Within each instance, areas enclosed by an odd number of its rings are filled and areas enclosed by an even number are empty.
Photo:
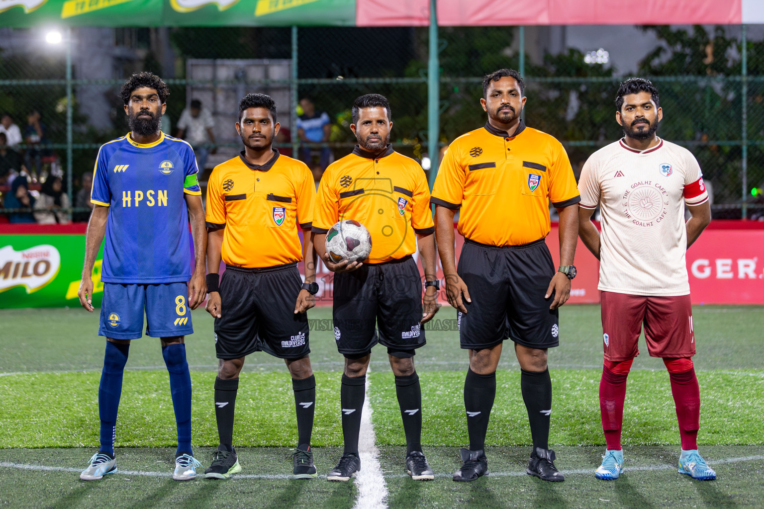
[[[99,482],[79,480],[92,449],[0,449],[0,462],[56,466],[66,471],[34,471],[0,466],[0,507],[34,509],[351,509],[358,490],[352,482],[326,482],[283,478],[291,472],[289,449],[241,447],[237,449],[242,475],[279,475],[282,478],[242,478],[228,481],[196,479],[175,482],[174,449],[117,449],[118,473]],[[211,449],[197,448],[202,465],[209,465]],[[527,447],[487,449],[490,475],[471,483],[452,482],[458,468],[458,449],[425,448],[437,477],[415,482],[403,474],[402,447],[380,448],[390,509],[748,509],[762,507],[764,447],[705,446],[718,478],[698,482],[676,472],[676,446],[626,447],[626,472],[614,482],[597,481],[594,469],[602,448],[556,448],[557,466],[565,482],[542,482],[525,475]],[[316,468],[325,475],[342,454],[341,448],[314,449]],[[722,462],[740,457],[745,461]],[[363,469],[364,466],[362,465]],[[129,473],[132,471],[133,473]],[[157,472],[164,477],[136,475]],[[366,508],[364,508],[366,509]]]

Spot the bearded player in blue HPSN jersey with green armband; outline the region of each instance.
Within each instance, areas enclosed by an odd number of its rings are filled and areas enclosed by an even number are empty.
[[[104,143],[93,171],[83,279],[79,302],[92,313],[92,269],[104,236],[104,283],[99,335],[106,353],[99,385],[101,448],[79,478],[94,481],[117,471],[114,439],[122,372],[130,341],[159,337],[170,373],[178,449],[176,481],[196,477],[191,449],[191,377],[183,338],[193,333],[190,309],[205,298],[207,243],[199,169],[191,146],[159,130],[170,95],[151,72],[131,76],[121,98],[131,132]],[[187,212],[186,212],[187,209]],[[195,268],[191,272],[189,217]]]

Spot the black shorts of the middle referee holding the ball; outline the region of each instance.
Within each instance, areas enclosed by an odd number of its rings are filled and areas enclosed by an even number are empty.
[[[332,317],[339,353],[360,357],[382,343],[392,356],[412,357],[426,343],[416,262],[405,256],[335,274]]]

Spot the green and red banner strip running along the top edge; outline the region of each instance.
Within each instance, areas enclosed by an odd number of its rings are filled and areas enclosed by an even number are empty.
[[[0,26],[426,26],[429,0],[0,0]],[[442,26],[764,23],[762,0],[438,0]]]

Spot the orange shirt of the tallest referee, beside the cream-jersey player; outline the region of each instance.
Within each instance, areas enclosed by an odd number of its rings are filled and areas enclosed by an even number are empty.
[[[568,154],[549,134],[514,134],[486,123],[454,140],[440,164],[432,203],[460,208],[458,232],[490,246],[518,246],[549,234],[556,208],[581,201]]]

